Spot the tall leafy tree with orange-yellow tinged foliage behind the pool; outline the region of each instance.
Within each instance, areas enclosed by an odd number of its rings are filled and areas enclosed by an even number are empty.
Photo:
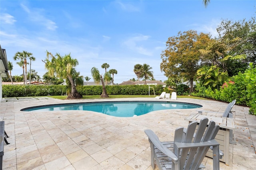
[[[190,81],[190,93],[193,91],[193,79],[200,66],[200,52],[210,40],[208,34],[197,34],[194,30],[178,32],[178,36],[168,38],[167,49],[162,51],[161,71],[166,77],[184,77]]]

